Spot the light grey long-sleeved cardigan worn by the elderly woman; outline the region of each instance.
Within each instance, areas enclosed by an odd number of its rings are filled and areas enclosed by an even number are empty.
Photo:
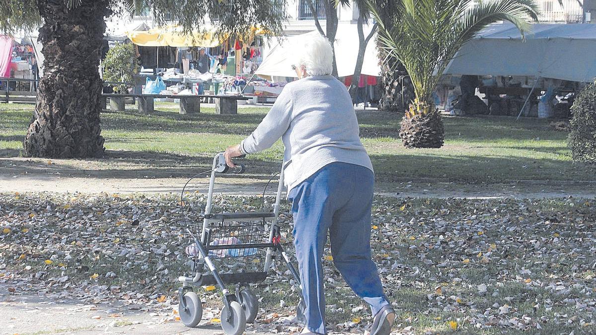
[[[240,149],[245,154],[265,150],[281,137],[289,191],[329,163],[352,163],[373,170],[358,134],[346,86],[333,76],[310,76],[285,85]]]

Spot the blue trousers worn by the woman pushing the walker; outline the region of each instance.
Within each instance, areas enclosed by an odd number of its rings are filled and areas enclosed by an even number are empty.
[[[331,241],[333,263],[373,315],[389,304],[371,259],[373,172],[364,166],[330,163],[288,193],[294,216],[294,246],[306,303],[306,327],[325,331],[321,258]]]

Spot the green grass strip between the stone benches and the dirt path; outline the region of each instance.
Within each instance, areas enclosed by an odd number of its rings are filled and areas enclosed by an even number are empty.
[[[132,107],[132,106],[131,106]],[[30,104],[0,104],[0,157],[21,155],[29,125]],[[156,103],[155,114],[135,108],[101,115],[106,159],[54,160],[56,168],[172,170],[203,168],[213,153],[250,134],[267,108],[238,108],[237,115],[180,115],[172,103]],[[594,169],[573,164],[566,132],[554,131],[549,120],[513,117],[445,117],[445,146],[406,149],[398,136],[401,115],[378,111],[358,113],[361,138],[379,181],[393,178],[446,178],[450,181],[593,180]],[[250,155],[247,163],[264,173],[278,169],[283,144]],[[13,162],[14,163],[14,162]],[[22,164],[22,163],[18,163]],[[140,173],[140,172],[139,172]]]

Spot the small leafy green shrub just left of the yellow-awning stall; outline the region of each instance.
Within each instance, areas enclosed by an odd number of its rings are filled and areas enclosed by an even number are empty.
[[[135,57],[132,43],[117,44],[105,55],[105,82],[132,82],[132,76],[139,72],[139,64]],[[126,92],[128,85],[114,85],[114,92]]]

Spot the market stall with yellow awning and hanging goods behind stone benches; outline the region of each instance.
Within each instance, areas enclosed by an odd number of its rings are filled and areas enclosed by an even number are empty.
[[[255,27],[238,41],[209,30],[184,33],[177,26],[128,32],[143,66],[137,83],[159,76],[166,83],[164,94],[240,94],[262,59],[258,36],[263,33]],[[147,58],[147,49],[156,54]]]

